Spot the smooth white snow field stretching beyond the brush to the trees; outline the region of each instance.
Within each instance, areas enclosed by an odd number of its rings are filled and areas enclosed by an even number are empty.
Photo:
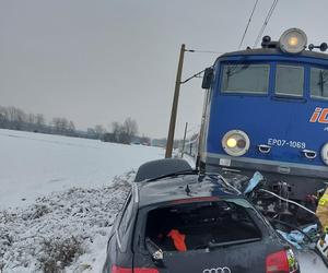
[[[0,151],[0,209],[26,206],[71,187],[108,185],[117,175],[164,157],[157,147],[1,129]]]

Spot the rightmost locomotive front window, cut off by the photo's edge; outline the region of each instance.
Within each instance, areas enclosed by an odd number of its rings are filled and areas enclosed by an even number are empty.
[[[328,98],[328,70],[311,69],[311,96]]]

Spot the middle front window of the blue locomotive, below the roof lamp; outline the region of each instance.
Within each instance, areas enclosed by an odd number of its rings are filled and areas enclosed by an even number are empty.
[[[276,94],[283,96],[303,96],[304,68],[278,64],[276,73]]]

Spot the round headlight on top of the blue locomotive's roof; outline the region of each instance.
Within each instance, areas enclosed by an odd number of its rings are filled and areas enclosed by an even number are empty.
[[[300,28],[286,29],[279,39],[280,49],[288,54],[300,54],[306,48],[306,34]]]

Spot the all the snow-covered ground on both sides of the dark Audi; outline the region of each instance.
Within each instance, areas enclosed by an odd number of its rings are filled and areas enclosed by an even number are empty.
[[[162,149],[11,130],[0,130],[0,273],[101,272],[133,169],[164,156]],[[63,248],[75,253],[68,266]],[[312,252],[301,257],[302,273],[327,272]]]

